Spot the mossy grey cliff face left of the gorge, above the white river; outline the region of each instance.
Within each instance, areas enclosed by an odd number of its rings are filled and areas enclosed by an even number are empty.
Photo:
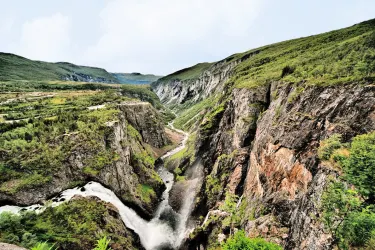
[[[59,144],[74,144],[63,168],[52,181],[33,190],[0,193],[4,204],[31,205],[88,181],[97,181],[113,190],[127,205],[151,217],[164,184],[154,170],[152,147],[169,143],[160,115],[149,103],[125,102],[117,106],[116,120],[102,124],[101,140],[82,144],[80,133],[65,134]],[[111,152],[102,154],[101,152]],[[142,190],[150,190],[145,194]]]

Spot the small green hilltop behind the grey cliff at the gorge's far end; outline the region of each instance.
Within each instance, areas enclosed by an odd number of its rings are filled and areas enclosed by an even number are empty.
[[[195,80],[197,79],[205,70],[211,67],[213,63],[198,63],[190,68],[181,69],[175,73],[168,76],[162,77],[158,80],[159,83],[166,83],[173,80]]]

